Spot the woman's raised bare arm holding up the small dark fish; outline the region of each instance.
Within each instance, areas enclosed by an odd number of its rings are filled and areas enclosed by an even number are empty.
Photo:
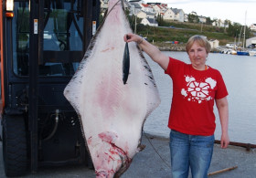
[[[165,56],[157,47],[144,40],[143,37],[137,36],[135,34],[126,34],[123,39],[125,42],[136,42],[150,58],[159,64],[161,68],[164,70],[167,69],[169,58]]]

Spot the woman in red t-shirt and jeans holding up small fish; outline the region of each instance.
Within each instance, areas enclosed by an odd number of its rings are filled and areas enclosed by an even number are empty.
[[[193,177],[208,177],[216,128],[214,101],[219,110],[221,148],[229,145],[229,108],[228,91],[219,71],[206,65],[210,51],[207,39],[189,38],[186,50],[191,64],[186,64],[166,57],[142,37],[127,34],[123,38],[136,42],[173,80],[168,122],[173,177],[187,177],[189,167]]]

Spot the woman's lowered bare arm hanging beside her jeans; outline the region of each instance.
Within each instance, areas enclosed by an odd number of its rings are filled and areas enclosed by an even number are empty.
[[[221,148],[227,148],[229,145],[229,104],[227,97],[216,99],[216,106],[219,111],[219,120],[221,124]]]

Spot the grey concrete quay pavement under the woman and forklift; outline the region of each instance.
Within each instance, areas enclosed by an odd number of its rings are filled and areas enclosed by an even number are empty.
[[[142,144],[146,145],[144,151],[138,152],[135,155],[130,168],[123,173],[122,178],[171,178],[168,139],[147,135],[147,137],[143,136]],[[0,142],[0,149],[0,177],[5,177],[2,142]],[[221,149],[219,144],[215,144],[209,173],[233,166],[238,166],[238,168],[229,172],[211,175],[209,177],[255,178],[256,150],[252,149],[251,151],[246,151],[245,148],[236,146],[229,146],[228,149]],[[64,167],[39,168],[37,173],[27,173],[24,177],[95,178],[95,174],[94,171],[88,169],[84,165],[69,165]],[[191,176],[189,175],[189,177]]]

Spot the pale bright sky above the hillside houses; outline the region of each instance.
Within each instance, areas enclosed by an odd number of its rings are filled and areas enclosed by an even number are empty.
[[[227,19],[240,25],[256,24],[256,0],[144,0],[144,3],[165,3],[185,14],[195,11],[197,16]]]

